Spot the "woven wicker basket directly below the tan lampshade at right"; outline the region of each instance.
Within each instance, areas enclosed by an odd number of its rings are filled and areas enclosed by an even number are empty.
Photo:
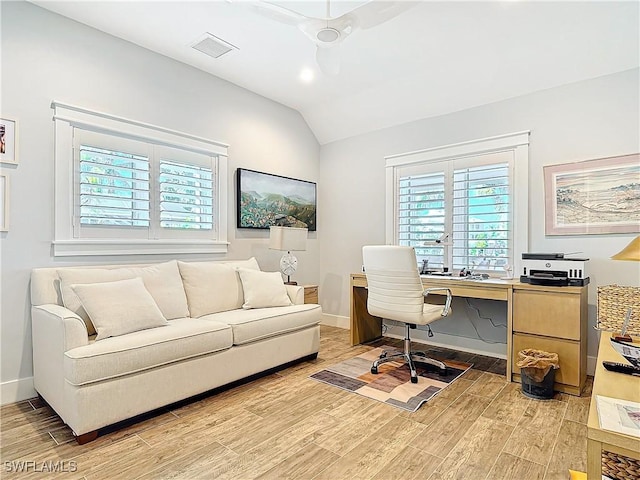
[[[629,308],[631,308],[631,320],[627,333],[640,335],[640,287],[620,285],[598,287],[597,328],[609,332],[620,332]]]

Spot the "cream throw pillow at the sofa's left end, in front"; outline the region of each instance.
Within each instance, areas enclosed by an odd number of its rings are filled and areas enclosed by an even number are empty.
[[[96,341],[169,325],[141,278],[71,288],[98,333]]]

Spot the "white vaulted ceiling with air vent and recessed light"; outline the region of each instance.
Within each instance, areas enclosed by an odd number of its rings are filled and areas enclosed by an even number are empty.
[[[417,1],[347,37],[335,77],[300,30],[246,2],[33,3],[288,105],[321,144],[640,64],[637,1]],[[279,3],[318,17],[326,8]],[[332,17],[363,3],[332,2]],[[192,49],[205,32],[239,50],[212,59]],[[311,83],[299,79],[305,67]]]

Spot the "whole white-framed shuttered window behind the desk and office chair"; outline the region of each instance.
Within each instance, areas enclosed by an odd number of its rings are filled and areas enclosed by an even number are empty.
[[[429,269],[499,275],[518,263],[527,230],[523,135],[389,157],[388,243],[415,247]]]

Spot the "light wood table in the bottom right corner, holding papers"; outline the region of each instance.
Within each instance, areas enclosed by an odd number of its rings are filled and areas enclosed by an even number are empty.
[[[610,333],[601,332],[598,363],[593,379],[593,393],[587,422],[587,477],[601,478],[602,452],[612,452],[640,460],[640,439],[622,433],[602,430],[598,420],[596,395],[640,402],[640,377],[609,372],[602,366],[603,360],[626,363],[609,342]],[[639,342],[639,338],[634,341]]]

